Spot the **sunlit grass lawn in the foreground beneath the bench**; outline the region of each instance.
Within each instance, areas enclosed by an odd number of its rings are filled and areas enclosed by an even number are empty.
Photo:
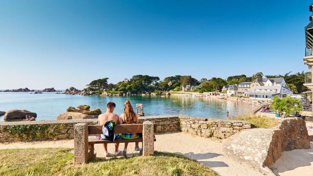
[[[97,159],[73,163],[71,149],[0,150],[0,175],[5,176],[218,176],[196,160],[156,152],[154,156]]]

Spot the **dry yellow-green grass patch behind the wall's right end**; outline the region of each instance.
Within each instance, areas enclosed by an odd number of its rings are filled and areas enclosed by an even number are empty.
[[[252,127],[256,128],[273,128],[279,124],[279,120],[275,118],[270,117],[261,117],[256,115],[249,115],[249,114],[243,114],[243,115],[237,115],[230,117],[229,119],[232,120],[244,120],[251,123]]]

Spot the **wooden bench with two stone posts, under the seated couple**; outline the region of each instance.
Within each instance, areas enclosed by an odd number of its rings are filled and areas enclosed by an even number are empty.
[[[125,143],[142,142],[142,154],[151,155],[154,152],[154,141],[156,137],[156,125],[150,121],[143,124],[115,125],[114,133],[142,133],[142,137],[137,139],[118,138],[113,142],[102,139],[88,139],[89,135],[102,134],[102,125],[86,125],[84,123],[74,126],[74,161],[75,163],[87,163],[89,159],[94,158],[94,144],[104,143]]]

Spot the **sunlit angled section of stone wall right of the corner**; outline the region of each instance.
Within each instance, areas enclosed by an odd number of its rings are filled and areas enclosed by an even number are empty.
[[[243,129],[251,128],[251,124],[239,120],[222,120],[202,117],[179,116],[180,130],[192,135],[201,137],[214,137],[224,139],[240,132]]]

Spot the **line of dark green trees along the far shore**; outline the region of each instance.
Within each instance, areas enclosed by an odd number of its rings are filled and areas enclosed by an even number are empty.
[[[204,92],[204,91],[221,91],[225,85],[239,84],[243,82],[252,82],[257,78],[276,78],[283,77],[287,83],[287,87],[290,88],[294,93],[301,93],[308,90],[307,87],[303,86],[305,73],[291,74],[288,72],[283,75],[263,75],[262,72],[257,72],[252,76],[246,75],[234,75],[229,76],[226,79],[213,77],[211,79],[202,78],[198,81],[190,75],[176,75],[169,76],[160,80],[157,76],[149,75],[134,75],[128,81],[121,81],[116,84],[108,83],[109,78],[102,78],[91,81],[87,86],[87,90],[92,90],[97,93],[103,93],[107,91],[109,93],[146,93],[160,91],[179,91],[183,84],[193,86],[193,91]]]

